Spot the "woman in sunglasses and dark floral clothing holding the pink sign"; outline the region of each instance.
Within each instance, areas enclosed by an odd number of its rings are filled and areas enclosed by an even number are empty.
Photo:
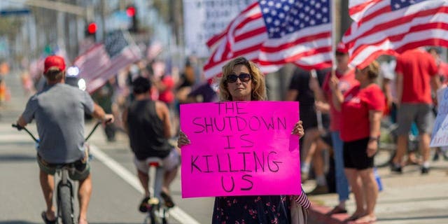
[[[253,62],[237,57],[223,66],[219,94],[225,102],[266,100],[265,77]],[[295,124],[292,134],[304,135],[302,121]],[[181,132],[179,148],[188,144],[190,140]],[[212,223],[297,223],[291,221],[288,199],[284,195],[216,197]],[[293,199],[303,209],[310,206],[303,190]]]

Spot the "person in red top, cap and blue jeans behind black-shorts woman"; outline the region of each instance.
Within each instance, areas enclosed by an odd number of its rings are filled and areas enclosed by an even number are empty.
[[[351,89],[358,84],[355,79],[354,69],[349,66],[349,50],[343,43],[339,43],[336,48],[336,63],[335,71],[331,71],[325,76],[322,88],[318,85],[316,78],[311,78],[309,87],[314,91],[316,100],[316,109],[321,109],[322,102],[330,104],[330,135],[332,141],[332,148],[335,159],[335,176],[336,176],[336,192],[339,196],[339,204],[335,206],[327,215],[346,213],[345,201],[349,199],[349,183],[344,174],[344,157],[342,153],[342,140],[339,136],[341,112],[335,109],[332,102],[332,91],[330,90],[330,77],[335,76],[339,83],[338,90],[342,93]],[[335,75],[332,75],[332,72]]]

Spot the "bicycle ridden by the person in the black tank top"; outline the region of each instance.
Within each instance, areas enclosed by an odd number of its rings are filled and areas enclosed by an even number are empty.
[[[160,158],[147,158],[146,162],[150,167],[150,174],[154,174],[153,190],[148,200],[148,214],[144,220],[144,224],[167,224],[169,218],[169,207],[162,203],[162,179],[165,169],[162,167],[162,160]]]

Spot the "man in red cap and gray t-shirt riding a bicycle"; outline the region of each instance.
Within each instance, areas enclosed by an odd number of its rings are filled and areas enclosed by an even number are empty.
[[[113,122],[111,114],[94,104],[87,92],[64,83],[65,62],[62,57],[49,56],[43,70],[47,86],[32,96],[17,121],[25,127],[36,120],[39,136],[37,162],[39,180],[47,205],[42,212],[45,223],[56,223],[52,204],[56,165],[74,164],[76,171],[70,178],[79,181],[79,224],[87,223],[87,206],[92,193],[92,176],[87,151],[84,148],[84,114],[106,122]]]

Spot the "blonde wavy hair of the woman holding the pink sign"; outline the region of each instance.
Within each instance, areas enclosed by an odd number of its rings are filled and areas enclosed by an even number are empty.
[[[228,90],[227,76],[233,73],[233,69],[237,65],[244,65],[251,74],[251,100],[262,101],[267,99],[265,75],[258,69],[258,66],[246,59],[245,57],[237,57],[223,66],[223,76],[219,80],[219,98],[221,101],[232,101],[232,95]]]

